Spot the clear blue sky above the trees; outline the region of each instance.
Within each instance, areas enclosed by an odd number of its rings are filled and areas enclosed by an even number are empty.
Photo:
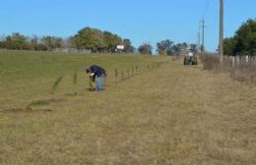
[[[96,27],[129,38],[135,47],[160,40],[198,42],[205,20],[205,47],[219,44],[220,0],[0,0],[0,35],[69,37]],[[256,0],[224,0],[224,37],[256,18]]]

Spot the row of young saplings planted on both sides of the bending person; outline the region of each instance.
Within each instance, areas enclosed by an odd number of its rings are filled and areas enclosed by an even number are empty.
[[[150,64],[133,65],[130,69],[126,71],[115,69],[114,70],[115,82],[125,81],[127,79],[134,77],[135,75],[138,75],[144,72],[153,71],[154,69],[159,68],[160,65],[162,65],[163,63],[167,63],[167,62],[153,62]],[[63,78],[64,78],[64,75],[58,77],[56,81],[52,84],[52,87],[50,89],[51,94],[56,92],[56,89],[58,88],[60,83],[63,81]],[[75,88],[77,87],[77,83],[78,83],[78,74],[77,74],[77,70],[75,70],[73,75],[73,84]],[[75,93],[77,93],[77,91]]]

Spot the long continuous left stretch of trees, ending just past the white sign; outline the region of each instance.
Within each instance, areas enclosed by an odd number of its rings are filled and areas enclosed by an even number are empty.
[[[134,53],[130,39],[122,39],[119,35],[97,28],[82,28],[69,38],[57,36],[26,36],[14,32],[0,38],[0,48],[13,50],[40,50],[52,51],[58,48],[86,49],[91,52],[113,53],[117,45],[124,45],[124,53]]]

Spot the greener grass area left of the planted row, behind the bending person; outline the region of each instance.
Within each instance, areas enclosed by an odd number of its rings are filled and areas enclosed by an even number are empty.
[[[0,50],[0,59],[0,92],[3,95],[0,109],[25,107],[34,99],[48,97],[49,93],[63,95],[76,90],[85,92],[88,84],[85,69],[92,64],[105,68],[109,76],[107,82],[111,83],[115,69],[126,72],[133,65],[160,60],[150,56],[5,50]]]

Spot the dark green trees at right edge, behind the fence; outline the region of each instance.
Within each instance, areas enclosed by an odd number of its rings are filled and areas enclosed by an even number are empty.
[[[224,54],[256,56],[256,19],[241,25],[234,36],[224,39]]]

